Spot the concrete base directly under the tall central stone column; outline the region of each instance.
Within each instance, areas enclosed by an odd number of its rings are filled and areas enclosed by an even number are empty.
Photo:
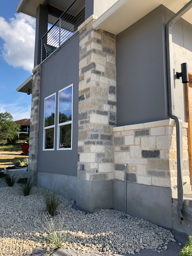
[[[113,206],[113,181],[89,181],[77,179],[76,205],[96,212]]]

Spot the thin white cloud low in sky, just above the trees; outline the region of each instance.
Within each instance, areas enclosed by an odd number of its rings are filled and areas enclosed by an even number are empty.
[[[12,115],[14,121],[24,118],[30,118],[31,116],[31,106],[23,107],[18,102],[0,104],[0,113],[4,113],[6,111]]]

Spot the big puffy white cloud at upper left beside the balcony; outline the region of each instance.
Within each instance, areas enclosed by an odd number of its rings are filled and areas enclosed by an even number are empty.
[[[4,60],[13,67],[31,72],[34,64],[36,20],[26,14],[17,13],[8,22],[0,16],[0,24]]]

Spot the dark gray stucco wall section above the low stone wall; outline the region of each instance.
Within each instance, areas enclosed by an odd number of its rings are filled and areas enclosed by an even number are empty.
[[[116,36],[117,126],[168,118],[164,9]]]

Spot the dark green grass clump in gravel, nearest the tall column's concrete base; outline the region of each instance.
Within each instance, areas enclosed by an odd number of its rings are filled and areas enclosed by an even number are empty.
[[[43,194],[43,201],[45,203],[47,212],[51,217],[53,217],[57,207],[60,204],[59,195],[55,191],[46,190]]]

